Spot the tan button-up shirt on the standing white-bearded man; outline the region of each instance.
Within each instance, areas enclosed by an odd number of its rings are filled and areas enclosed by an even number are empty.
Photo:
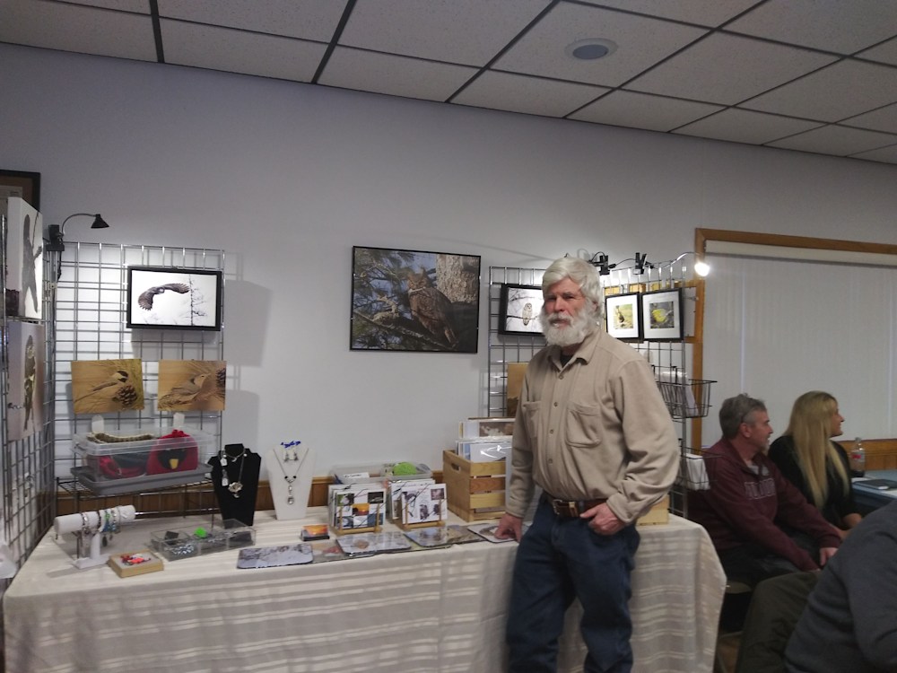
[[[663,497],[679,442],[645,359],[597,328],[566,366],[547,346],[520,393],[507,510],[523,516],[534,482],[563,500],[606,498],[624,523]]]

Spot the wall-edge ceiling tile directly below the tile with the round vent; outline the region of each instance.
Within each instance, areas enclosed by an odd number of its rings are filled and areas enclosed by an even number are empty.
[[[452,99],[477,108],[506,109],[544,117],[563,117],[608,90],[590,84],[554,82],[522,74],[486,72]]]

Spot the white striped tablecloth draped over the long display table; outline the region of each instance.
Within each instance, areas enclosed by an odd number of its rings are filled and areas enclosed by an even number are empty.
[[[314,509],[304,521],[258,512],[256,546],[298,542],[301,524],[319,520]],[[201,523],[138,520],[109,552]],[[640,532],[635,670],[710,673],[725,586],[710,539],[678,517]],[[51,531],[4,594],[6,670],[498,673],[516,548],[480,542],[257,570],[238,570],[232,550],[119,578],[106,566],[76,570],[74,538]],[[582,669],[577,618],[573,607],[562,671]]]

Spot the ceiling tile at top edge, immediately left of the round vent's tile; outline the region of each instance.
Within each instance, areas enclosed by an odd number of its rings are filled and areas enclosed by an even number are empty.
[[[340,44],[484,66],[549,4],[548,0],[358,0]]]

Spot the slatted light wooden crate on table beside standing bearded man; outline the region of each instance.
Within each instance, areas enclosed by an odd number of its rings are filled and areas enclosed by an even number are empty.
[[[505,461],[475,463],[454,451],[442,452],[442,479],[448,509],[466,521],[498,519],[505,508]]]

